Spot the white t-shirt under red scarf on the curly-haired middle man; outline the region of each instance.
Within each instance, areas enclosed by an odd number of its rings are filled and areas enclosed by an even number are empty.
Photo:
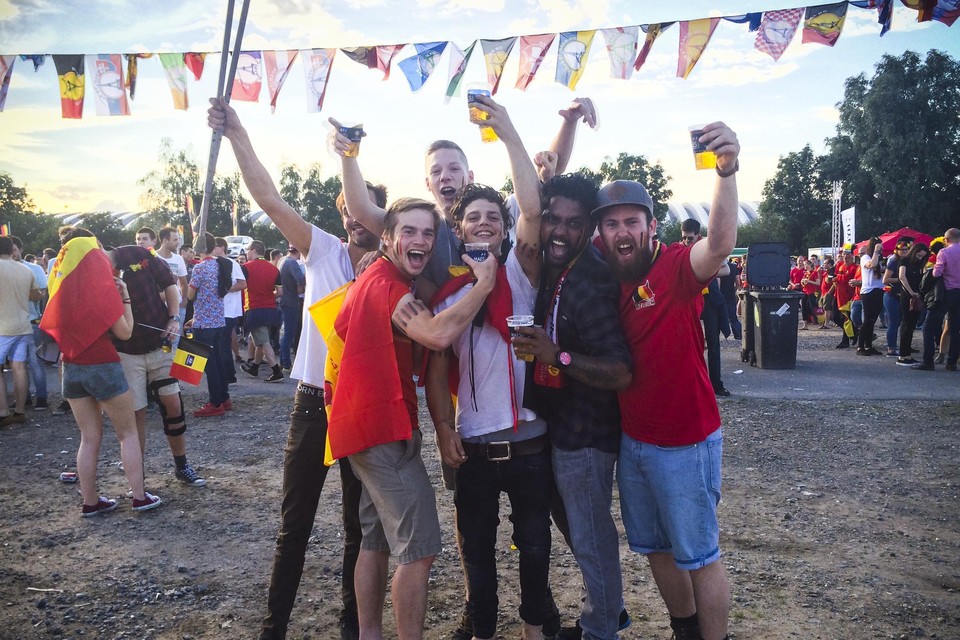
[[[513,298],[514,315],[532,315],[537,299],[537,288],[530,284],[516,253],[511,251],[505,263],[507,281]],[[473,285],[456,292],[434,310],[440,313],[467,295]],[[470,341],[473,340],[474,389],[470,385]],[[467,329],[453,343],[453,352],[460,360],[460,386],[457,390],[457,430],[462,438],[473,438],[513,426],[513,407],[510,406],[510,375],[513,367],[514,394],[517,401],[517,419],[537,418],[530,409],[523,408],[523,390],[526,363],[514,356],[513,346],[504,342],[500,332],[484,322],[482,327]],[[474,393],[475,392],[475,393]],[[474,398],[478,410],[474,410]]]

